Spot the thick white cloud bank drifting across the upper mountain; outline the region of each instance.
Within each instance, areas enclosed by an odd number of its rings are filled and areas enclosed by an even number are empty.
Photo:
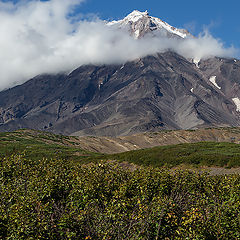
[[[71,13],[82,1],[0,1],[0,90],[42,73],[83,64],[121,64],[169,49],[195,59],[234,55],[234,48],[224,48],[209,33],[185,41],[135,40],[101,20],[73,21]]]

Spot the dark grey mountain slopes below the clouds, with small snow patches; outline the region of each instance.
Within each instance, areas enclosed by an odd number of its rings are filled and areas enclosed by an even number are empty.
[[[0,131],[117,136],[239,126],[239,83],[238,60],[215,57],[195,65],[174,52],[81,66],[0,92]]]

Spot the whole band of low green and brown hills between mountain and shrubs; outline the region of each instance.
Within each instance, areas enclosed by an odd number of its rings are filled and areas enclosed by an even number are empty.
[[[236,144],[239,135],[237,128],[146,133],[117,139],[19,130],[0,134],[0,156],[24,154],[31,160],[58,158],[81,164],[118,161],[130,168],[131,164],[231,168],[240,166],[240,148]]]

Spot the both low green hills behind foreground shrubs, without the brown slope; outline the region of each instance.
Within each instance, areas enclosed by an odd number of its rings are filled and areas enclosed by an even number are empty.
[[[23,152],[31,160],[61,158],[80,163],[117,160],[153,167],[240,166],[240,147],[235,143],[187,143],[108,155],[83,150],[75,137],[33,130],[0,133],[0,157]]]

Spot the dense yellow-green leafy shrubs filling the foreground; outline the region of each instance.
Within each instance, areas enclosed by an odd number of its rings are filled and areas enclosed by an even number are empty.
[[[0,239],[240,239],[240,176],[0,160]]]

